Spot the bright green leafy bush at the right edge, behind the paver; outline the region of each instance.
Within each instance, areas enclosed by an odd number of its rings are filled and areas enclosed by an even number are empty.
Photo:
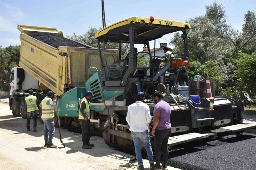
[[[240,53],[236,60],[237,70],[234,77],[238,79],[238,88],[245,90],[251,96],[256,95],[256,53]]]

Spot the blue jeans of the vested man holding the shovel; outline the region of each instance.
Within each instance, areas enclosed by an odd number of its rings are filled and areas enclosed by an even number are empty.
[[[43,119],[44,122],[44,143],[48,143],[49,145],[53,142],[53,134],[55,132],[54,128],[54,118]]]

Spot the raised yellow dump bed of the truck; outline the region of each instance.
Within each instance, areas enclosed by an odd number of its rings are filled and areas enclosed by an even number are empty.
[[[92,76],[90,67],[96,67],[98,70],[102,67],[98,48],[63,39],[63,33],[56,28],[18,25],[18,30],[21,32],[19,66],[39,81],[39,89],[50,89],[60,96],[68,86],[85,87],[86,80]],[[73,41],[79,47],[53,47],[42,42],[47,42],[47,39],[40,36],[37,39],[31,37],[36,32],[61,36],[63,40]],[[106,62],[109,64],[118,60],[117,49],[102,49],[101,54],[104,65]]]

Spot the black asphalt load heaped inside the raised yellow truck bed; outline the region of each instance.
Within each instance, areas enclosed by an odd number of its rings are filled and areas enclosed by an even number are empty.
[[[70,47],[86,47],[78,44],[72,40],[62,37],[60,34],[48,33],[48,32],[32,32],[30,37],[33,37],[45,44],[48,44],[54,48],[59,46],[70,46]]]

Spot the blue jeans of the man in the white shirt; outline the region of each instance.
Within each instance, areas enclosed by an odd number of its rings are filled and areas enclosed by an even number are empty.
[[[135,153],[136,153],[139,166],[143,165],[141,151],[140,151],[140,140],[143,142],[147,150],[149,163],[154,163],[153,151],[151,148],[149,133],[147,132],[147,130],[145,130],[144,132],[132,132],[132,138],[133,138]]]

